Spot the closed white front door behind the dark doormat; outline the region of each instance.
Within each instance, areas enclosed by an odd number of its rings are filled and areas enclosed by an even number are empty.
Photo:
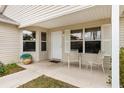
[[[51,32],[51,58],[62,59],[62,32]]]

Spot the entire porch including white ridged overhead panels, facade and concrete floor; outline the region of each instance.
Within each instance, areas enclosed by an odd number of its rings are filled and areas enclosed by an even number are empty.
[[[98,53],[105,58],[100,62],[104,62],[104,68],[111,67],[107,59],[112,56],[110,5],[7,6],[3,14],[20,23],[19,54],[30,53],[33,57],[33,64],[22,66],[79,87],[110,87],[106,83],[110,74],[107,70],[104,73],[98,66],[92,71],[91,67],[86,67],[96,61],[93,55]],[[78,56],[64,60],[73,50]],[[83,55],[92,60],[84,61]],[[67,65],[74,58],[79,59]],[[84,62],[86,65],[82,64]]]

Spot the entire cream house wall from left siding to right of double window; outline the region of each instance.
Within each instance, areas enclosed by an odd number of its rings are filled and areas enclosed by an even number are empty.
[[[22,53],[30,53],[34,61],[41,61],[50,59],[51,57],[51,32],[52,31],[63,31],[62,41],[62,55],[64,56],[65,51],[70,51],[70,39],[69,33],[73,29],[84,29],[87,27],[101,26],[102,29],[102,50],[107,55],[111,55],[111,21],[110,19],[101,19],[86,23],[80,23],[75,25],[69,25],[64,27],[53,28],[50,30],[40,27],[27,27],[19,31],[14,25],[8,25],[0,23],[0,61],[5,63],[18,61],[19,55]],[[35,52],[23,52],[23,34],[24,29],[36,31],[36,51]],[[47,32],[47,51],[41,51],[41,32]],[[11,43],[10,43],[11,42]],[[108,45],[109,43],[109,45]],[[5,56],[5,57],[4,57]]]

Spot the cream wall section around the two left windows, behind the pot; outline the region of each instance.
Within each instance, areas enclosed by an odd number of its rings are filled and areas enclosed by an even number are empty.
[[[31,51],[31,52],[23,52],[23,37],[21,37],[22,38],[21,39],[22,40],[22,47],[21,47],[21,53],[20,54],[30,53],[33,56],[34,62],[39,62],[39,61],[48,59],[48,50],[47,51],[41,51],[41,32],[47,32],[47,29],[44,29],[41,27],[27,27],[27,28],[23,28],[21,31],[23,31],[23,30],[30,30],[30,31],[36,32],[36,50]]]

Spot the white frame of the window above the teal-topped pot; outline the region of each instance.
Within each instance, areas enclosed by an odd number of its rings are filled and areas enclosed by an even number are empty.
[[[35,40],[24,40],[23,31],[35,32]],[[22,40],[23,40],[23,50],[22,50],[22,51],[23,51],[23,52],[35,52],[35,51],[36,51],[36,31],[32,31],[32,30],[23,30],[23,31],[22,31]],[[28,43],[28,42],[35,43],[35,46],[34,46],[35,48],[34,48],[34,50],[28,50],[28,51],[26,50],[26,51],[24,51],[24,43],[25,43],[25,42],[27,42],[27,43]]]

